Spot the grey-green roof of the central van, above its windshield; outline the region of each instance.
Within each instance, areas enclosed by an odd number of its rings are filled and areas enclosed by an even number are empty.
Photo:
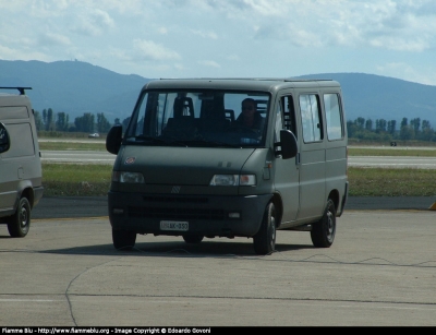
[[[252,89],[279,91],[296,87],[340,87],[337,81],[326,79],[293,79],[293,77],[192,77],[192,79],[159,79],[144,85],[144,89]]]

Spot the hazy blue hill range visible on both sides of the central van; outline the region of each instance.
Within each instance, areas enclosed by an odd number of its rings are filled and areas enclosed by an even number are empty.
[[[298,77],[331,79],[343,91],[348,120],[428,120],[436,128],[436,86],[365,73],[318,73]],[[119,74],[81,61],[0,60],[0,86],[31,86],[34,109],[64,111],[70,121],[84,112],[104,112],[113,122],[132,112],[142,86],[152,79]]]

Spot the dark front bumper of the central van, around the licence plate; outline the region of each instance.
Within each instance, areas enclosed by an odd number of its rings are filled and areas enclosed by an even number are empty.
[[[253,237],[271,194],[210,196],[108,193],[109,220],[116,230],[154,235]],[[187,223],[187,230],[162,230],[161,222]]]

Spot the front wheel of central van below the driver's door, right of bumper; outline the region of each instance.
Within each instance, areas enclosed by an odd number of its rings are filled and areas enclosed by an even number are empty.
[[[257,254],[270,254],[276,250],[276,207],[274,203],[266,206],[261,228],[253,237],[253,244]]]

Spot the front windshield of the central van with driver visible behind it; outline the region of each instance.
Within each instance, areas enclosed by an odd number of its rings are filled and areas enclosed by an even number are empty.
[[[124,139],[143,145],[265,145],[269,93],[143,92]]]

